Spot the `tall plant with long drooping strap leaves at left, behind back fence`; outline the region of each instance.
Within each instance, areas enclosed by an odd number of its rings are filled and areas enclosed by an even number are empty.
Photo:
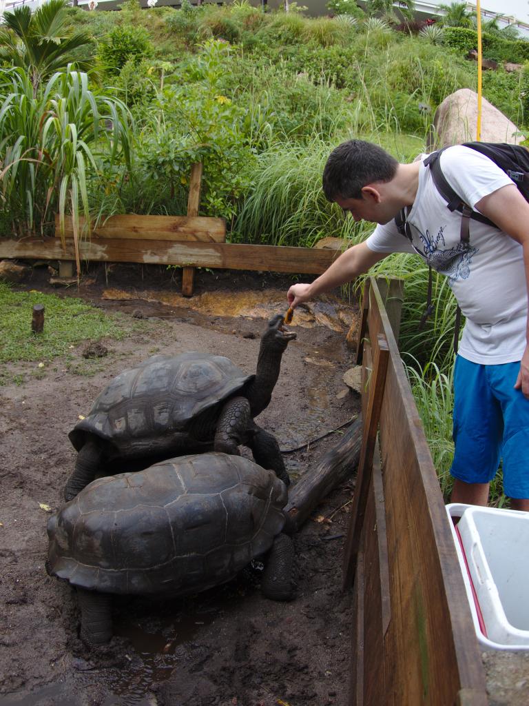
[[[88,76],[55,73],[35,97],[22,68],[0,86],[1,205],[20,235],[48,234],[59,211],[73,215],[78,258],[79,212],[90,219],[87,181],[102,163],[128,160],[128,114],[116,98],[88,88]]]

